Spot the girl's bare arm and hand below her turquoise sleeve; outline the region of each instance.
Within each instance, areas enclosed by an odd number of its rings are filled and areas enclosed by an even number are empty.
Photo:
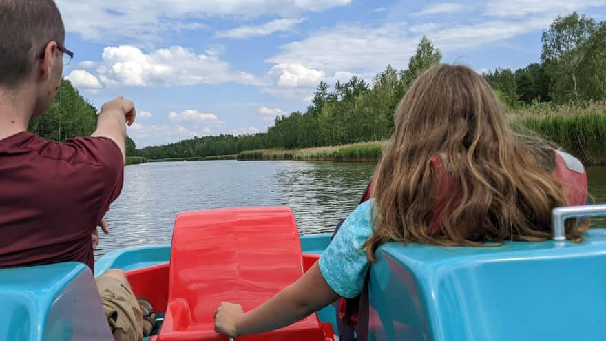
[[[223,302],[215,311],[215,331],[236,337],[286,327],[335,302],[339,295],[326,283],[316,262],[309,271],[259,307],[244,313]]]

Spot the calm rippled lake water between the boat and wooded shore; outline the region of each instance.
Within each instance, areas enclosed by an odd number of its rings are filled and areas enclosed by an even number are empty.
[[[98,258],[122,247],[168,244],[180,211],[287,205],[301,234],[333,231],[356,207],[375,163],[188,161],[125,168],[122,194],[105,219]],[[606,203],[606,167],[590,167],[589,191]],[[598,222],[606,225],[603,220]]]

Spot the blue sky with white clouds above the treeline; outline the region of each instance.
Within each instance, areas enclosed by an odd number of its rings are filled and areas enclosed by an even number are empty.
[[[65,76],[94,105],[124,95],[138,147],[265,132],[320,80],[406,68],[426,35],[479,72],[539,61],[541,30],[606,0],[56,0],[76,54]]]

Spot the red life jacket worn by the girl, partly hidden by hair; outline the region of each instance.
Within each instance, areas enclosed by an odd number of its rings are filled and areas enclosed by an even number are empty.
[[[585,205],[587,203],[587,173],[585,172],[585,167],[583,167],[583,163],[579,161],[574,156],[567,154],[561,150],[554,150],[554,155],[556,158],[555,167],[552,172],[552,176],[560,181],[564,188],[564,194],[567,198],[567,203],[569,206],[577,206],[577,205]],[[448,193],[448,187],[452,186],[452,178],[448,176],[448,165],[446,165],[443,156],[434,156],[431,160],[432,167],[435,171],[436,178],[440,179],[441,184],[437,186],[440,188],[442,193]],[[364,194],[362,195],[362,199],[360,203],[363,203],[366,200],[370,199],[370,189],[372,187],[372,183],[368,184]],[[440,197],[438,196],[438,203],[440,204]],[[434,216],[432,217],[432,229],[438,228],[439,221],[441,221],[441,212],[448,210],[435,210]],[[341,222],[342,223],[342,222]],[[337,229],[340,227],[341,223],[337,225]],[[457,227],[461,234],[467,234],[467,225],[462,224]],[[368,276],[366,277],[368,280]],[[365,283],[364,289],[362,290],[361,296],[368,297],[368,283]],[[353,341],[353,332],[364,330],[363,333],[368,333],[368,321],[362,321],[362,324],[365,324],[364,327],[362,325],[361,328],[358,329],[358,315],[364,316],[364,318],[368,318],[368,307],[362,307],[360,304],[361,296],[357,296],[355,298],[339,298],[338,300],[338,310],[337,310],[337,320],[339,320],[339,331],[341,335],[345,335],[345,338],[341,338],[341,341]],[[368,300],[364,300],[365,304],[368,304]],[[348,331],[345,331],[348,329]],[[358,340],[368,340],[368,335],[359,335]]]

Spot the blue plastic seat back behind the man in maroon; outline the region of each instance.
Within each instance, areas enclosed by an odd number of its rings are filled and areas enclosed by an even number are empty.
[[[0,269],[0,341],[114,340],[90,269]]]

